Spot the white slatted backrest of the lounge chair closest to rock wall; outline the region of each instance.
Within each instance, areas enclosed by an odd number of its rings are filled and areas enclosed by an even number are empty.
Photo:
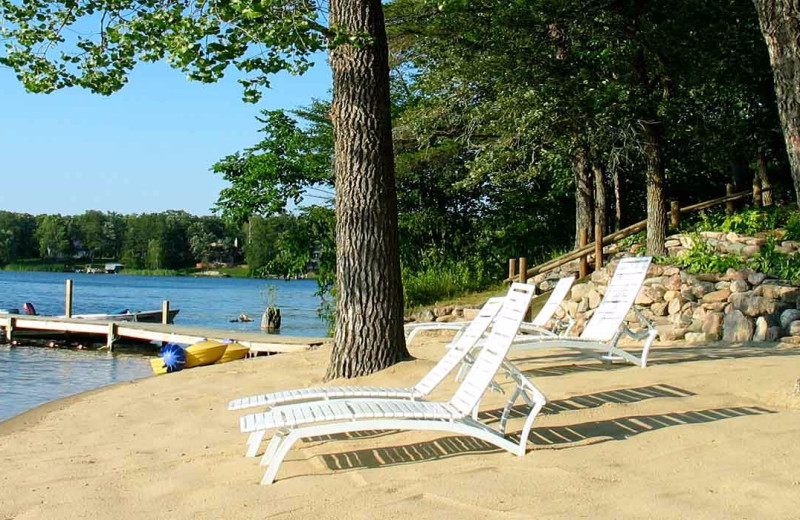
[[[619,261],[603,301],[586,324],[583,334],[580,335],[581,339],[607,342],[614,338],[622,320],[633,307],[651,260],[649,256],[637,256]]]

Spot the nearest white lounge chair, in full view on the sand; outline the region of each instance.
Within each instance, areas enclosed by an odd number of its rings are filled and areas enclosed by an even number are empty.
[[[511,363],[505,361],[532,296],[530,286],[513,284],[503,307],[495,318],[492,332],[478,353],[474,365],[452,399],[447,402],[393,399],[335,400],[324,403],[301,403],[279,406],[264,413],[240,419],[242,432],[260,434],[277,430],[267,447],[261,464],[268,465],[262,484],[271,484],[284,457],[299,439],[374,430],[424,430],[469,435],[515,455],[525,454],[528,433],[536,415],[546,403],[544,395]],[[504,368],[517,383],[517,389],[506,403],[500,431],[479,422],[477,408],[496,372]],[[519,442],[506,437],[505,419],[519,396],[530,404]]]

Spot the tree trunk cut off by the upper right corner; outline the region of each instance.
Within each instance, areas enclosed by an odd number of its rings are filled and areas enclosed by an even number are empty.
[[[800,4],[797,0],[753,1],[769,49],[778,113],[800,204]]]

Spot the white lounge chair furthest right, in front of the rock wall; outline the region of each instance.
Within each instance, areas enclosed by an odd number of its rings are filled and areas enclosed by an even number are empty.
[[[586,324],[583,333],[577,338],[563,337],[529,337],[518,336],[515,340],[514,350],[530,348],[565,347],[589,351],[606,362],[625,360],[642,368],[647,366],[647,356],[650,346],[658,334],[656,328],[633,307],[633,302],[639,294],[647,270],[650,267],[650,257],[632,257],[620,260],[614,276],[606,288],[603,300]],[[632,332],[624,323],[628,311],[633,308],[634,313],[645,325],[642,332]],[[619,340],[623,335],[637,340],[643,340],[642,351],[639,356],[631,354],[619,347]]]

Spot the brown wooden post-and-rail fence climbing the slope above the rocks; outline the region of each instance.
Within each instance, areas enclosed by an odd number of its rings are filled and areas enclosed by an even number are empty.
[[[681,223],[681,215],[687,213],[693,213],[696,211],[701,211],[704,209],[709,209],[714,206],[719,206],[721,204],[725,204],[725,212],[727,214],[733,213],[734,210],[734,202],[749,199],[752,197],[753,205],[756,207],[761,207],[763,205],[763,192],[761,189],[761,181],[759,179],[755,179],[753,182],[753,190],[745,190],[740,191],[738,193],[733,192],[733,185],[727,184],[725,186],[725,195],[722,197],[718,197],[716,199],[707,200],[705,202],[699,202],[697,204],[692,204],[691,206],[680,207],[680,204],[677,200],[673,200],[670,202],[670,209],[669,209],[669,222],[673,228],[680,226]],[[557,267],[560,267],[566,263],[572,262],[574,260],[580,260],[578,271],[580,277],[583,278],[589,274],[589,261],[588,256],[594,253],[595,257],[595,270],[600,269],[603,267],[603,247],[615,244],[622,240],[623,238],[627,238],[631,235],[635,235],[640,231],[644,231],[647,229],[647,220],[642,220],[641,222],[637,222],[636,224],[632,224],[626,228],[620,229],[615,233],[611,233],[610,235],[603,236],[603,230],[601,226],[595,226],[595,241],[593,244],[588,244],[588,230],[581,229],[578,234],[578,249],[571,251],[565,255],[562,255],[558,258],[554,258],[553,260],[548,260],[543,264],[539,264],[535,267],[531,267],[528,269],[528,261],[526,258],[522,257],[519,258],[517,261],[516,258],[512,258],[508,261],[508,278],[504,281],[506,283],[511,282],[525,282],[531,276],[536,276],[539,273],[551,271]],[[519,268],[518,268],[519,267]]]

